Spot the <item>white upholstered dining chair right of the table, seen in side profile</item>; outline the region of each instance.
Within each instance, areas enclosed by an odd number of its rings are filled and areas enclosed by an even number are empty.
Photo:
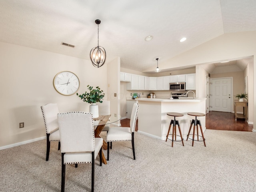
[[[107,143],[108,143],[108,158],[109,160],[109,146],[112,142],[116,141],[132,141],[132,152],[133,159],[135,160],[135,149],[134,149],[134,131],[136,126],[136,120],[138,116],[139,105],[134,103],[132,107],[132,114],[130,118],[130,127],[110,127],[107,133]]]

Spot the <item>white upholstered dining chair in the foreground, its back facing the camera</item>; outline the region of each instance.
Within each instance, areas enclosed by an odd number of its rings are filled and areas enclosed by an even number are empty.
[[[92,188],[94,191],[94,167],[97,154],[102,165],[102,138],[94,137],[94,124],[91,113],[68,112],[58,114],[60,130],[62,174],[61,191],[65,188],[66,164],[92,164]]]

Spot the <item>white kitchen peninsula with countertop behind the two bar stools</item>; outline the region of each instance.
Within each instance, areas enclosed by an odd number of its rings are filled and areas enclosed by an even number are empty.
[[[188,112],[206,112],[206,98],[195,99],[157,99],[157,98],[138,98],[139,116],[138,132],[160,140],[166,140],[166,135],[170,122],[173,117],[168,116],[168,112],[178,112],[184,114],[176,119],[180,122],[182,136],[186,140],[190,120],[194,117],[189,116]],[[203,131],[205,127],[205,116],[198,117],[201,121]],[[172,132],[172,129],[171,129]],[[171,134],[170,132],[170,134]]]

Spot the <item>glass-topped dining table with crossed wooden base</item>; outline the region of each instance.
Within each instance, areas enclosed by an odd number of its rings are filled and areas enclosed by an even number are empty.
[[[100,133],[107,124],[113,124],[121,119],[121,115],[110,113],[106,115],[100,115],[98,118],[94,118],[94,136],[100,138]],[[107,149],[107,142],[103,140],[102,149]],[[106,158],[102,150],[102,162],[107,164]]]

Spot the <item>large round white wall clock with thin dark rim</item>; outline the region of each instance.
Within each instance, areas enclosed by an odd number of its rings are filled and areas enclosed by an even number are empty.
[[[79,88],[79,79],[74,73],[63,71],[56,74],[53,79],[53,85],[60,94],[72,95],[75,94]]]

